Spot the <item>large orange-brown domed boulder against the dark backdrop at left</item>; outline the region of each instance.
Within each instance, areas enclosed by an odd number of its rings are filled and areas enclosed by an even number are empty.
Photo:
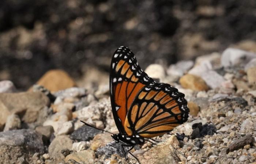
[[[49,70],[37,82],[51,92],[76,86],[75,81],[63,70]]]

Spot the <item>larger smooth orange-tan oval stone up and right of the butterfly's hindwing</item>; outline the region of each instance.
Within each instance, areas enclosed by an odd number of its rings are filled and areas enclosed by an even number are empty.
[[[208,90],[206,82],[199,76],[186,74],[180,78],[180,84],[186,89],[192,89],[196,91]]]

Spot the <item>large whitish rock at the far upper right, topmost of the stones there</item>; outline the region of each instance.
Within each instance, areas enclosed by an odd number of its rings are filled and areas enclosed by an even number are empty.
[[[224,67],[246,64],[251,59],[256,58],[256,54],[236,48],[227,48],[221,56],[221,64]]]

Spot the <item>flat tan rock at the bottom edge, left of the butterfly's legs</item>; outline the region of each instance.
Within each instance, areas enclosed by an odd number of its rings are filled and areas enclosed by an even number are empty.
[[[80,152],[75,152],[67,157],[65,157],[65,162],[67,162],[69,159],[74,159],[75,161],[79,163],[87,163],[87,164],[93,164],[95,159],[95,153],[92,150],[84,150]]]

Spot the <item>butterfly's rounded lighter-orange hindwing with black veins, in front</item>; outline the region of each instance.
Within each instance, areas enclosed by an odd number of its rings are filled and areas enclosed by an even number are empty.
[[[184,94],[165,83],[145,86],[134,99],[125,119],[128,135],[151,138],[170,132],[188,119]]]

